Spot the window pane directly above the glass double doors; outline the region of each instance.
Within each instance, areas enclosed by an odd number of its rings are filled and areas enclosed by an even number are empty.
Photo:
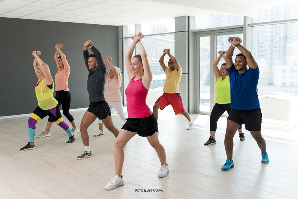
[[[243,24],[243,17],[221,13],[202,12],[195,17],[195,29],[215,28]]]

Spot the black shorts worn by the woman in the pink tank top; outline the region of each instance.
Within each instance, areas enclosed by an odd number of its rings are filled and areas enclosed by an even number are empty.
[[[146,118],[127,118],[121,129],[137,132],[141,137],[148,137],[158,131],[157,119],[153,113]]]

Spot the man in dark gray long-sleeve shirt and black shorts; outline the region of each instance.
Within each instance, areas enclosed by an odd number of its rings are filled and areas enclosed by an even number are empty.
[[[92,44],[93,42],[88,40],[84,46],[84,61],[89,71],[87,90],[89,93],[90,105],[84,114],[80,125],[81,137],[85,151],[77,157],[78,160],[92,157],[87,129],[96,120],[96,118],[102,120],[105,127],[111,131],[115,137],[119,134],[119,130],[114,126],[112,121],[111,109],[105,101],[103,95],[106,68],[99,50],[97,50]],[[89,55],[88,47],[94,54]]]

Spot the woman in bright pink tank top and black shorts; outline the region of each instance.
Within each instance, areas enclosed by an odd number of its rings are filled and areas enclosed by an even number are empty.
[[[115,140],[115,176],[110,183],[105,186],[106,190],[112,190],[118,186],[124,185],[122,167],[124,162],[123,147],[137,133],[139,136],[147,137],[150,145],[155,149],[161,168],[158,177],[165,177],[169,172],[169,166],[166,163],[166,152],[158,139],[157,120],[148,105],[146,98],[152,81],[152,73],[147,58],[147,53],[141,42],[144,37],[142,33],[133,36],[133,42],[125,54],[125,65],[130,80],[125,95],[127,99],[128,119],[120,130]],[[140,55],[133,58],[134,48],[139,45]]]

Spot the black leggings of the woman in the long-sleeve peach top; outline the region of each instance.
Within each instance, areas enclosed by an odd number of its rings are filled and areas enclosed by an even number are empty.
[[[74,118],[69,113],[70,109],[70,101],[72,99],[72,95],[69,91],[59,90],[56,91],[55,99],[58,101],[59,106],[62,104],[63,115],[69,120],[69,122],[74,121]],[[51,118],[48,119],[49,122],[53,122]]]

